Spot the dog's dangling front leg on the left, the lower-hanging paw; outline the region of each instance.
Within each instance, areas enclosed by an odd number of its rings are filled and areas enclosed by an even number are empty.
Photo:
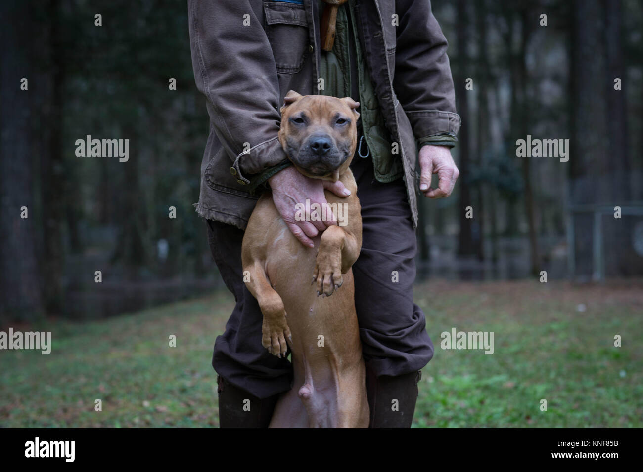
[[[260,261],[254,260],[248,265],[244,263],[243,268],[244,277],[248,277],[246,286],[257,299],[264,315],[261,344],[269,353],[285,357],[288,349],[286,340],[291,340],[291,333],[286,321],[284,301],[271,286]]]

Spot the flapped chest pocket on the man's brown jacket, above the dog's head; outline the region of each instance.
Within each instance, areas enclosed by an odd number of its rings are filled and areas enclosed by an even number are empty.
[[[309,47],[308,22],[303,5],[264,2],[266,34],[277,72],[296,74],[303,68]]]

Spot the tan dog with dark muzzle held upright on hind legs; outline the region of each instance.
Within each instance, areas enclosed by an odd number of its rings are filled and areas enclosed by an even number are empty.
[[[357,144],[358,106],[351,98],[290,91],[281,109],[279,141],[295,168],[308,177],[339,179],[350,190],[346,198],[325,191],[329,204],[345,205],[343,225],[312,238],[314,249],[304,247],[266,191],[244,235],[244,275],[249,275],[248,290],[264,315],[262,344],[285,356],[288,343],[293,353],[294,387],[279,399],[271,427],[368,426],[350,269],[359,256],[362,231],[357,185],[349,168]]]

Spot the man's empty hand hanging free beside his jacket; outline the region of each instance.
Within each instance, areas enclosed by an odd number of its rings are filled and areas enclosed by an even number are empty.
[[[420,148],[420,190],[424,197],[446,198],[451,195],[460,171],[447,146],[425,144]],[[431,188],[431,175],[438,175],[438,188]]]

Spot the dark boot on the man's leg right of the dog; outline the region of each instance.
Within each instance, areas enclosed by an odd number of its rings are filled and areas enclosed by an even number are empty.
[[[418,395],[417,383],[421,378],[422,371],[395,377],[377,377],[367,366],[366,391],[370,408],[368,427],[410,428]]]

